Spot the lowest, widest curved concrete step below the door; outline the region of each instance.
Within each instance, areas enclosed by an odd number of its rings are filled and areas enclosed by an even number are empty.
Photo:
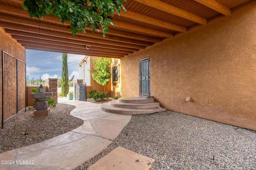
[[[126,109],[120,107],[112,107],[109,106],[108,103],[101,104],[100,109],[102,111],[110,112],[110,113],[117,113],[117,114],[124,114],[124,115],[134,115],[134,114],[144,114],[144,113],[155,113],[159,111],[165,111],[164,108],[147,108],[147,109]]]

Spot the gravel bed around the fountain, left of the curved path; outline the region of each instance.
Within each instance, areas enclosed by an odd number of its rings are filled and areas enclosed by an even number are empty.
[[[84,123],[70,115],[75,106],[57,104],[48,117],[35,117],[34,109],[20,112],[0,129],[0,153],[24,147],[76,129]]]

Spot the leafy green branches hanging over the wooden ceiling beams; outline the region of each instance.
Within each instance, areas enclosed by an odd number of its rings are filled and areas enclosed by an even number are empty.
[[[112,24],[108,15],[120,9],[124,11],[122,0],[24,0],[23,9],[28,10],[30,17],[43,18],[46,15],[54,15],[61,22],[68,21],[73,35],[79,30],[85,33],[85,27],[92,31],[102,30],[103,36],[108,32],[108,25]]]

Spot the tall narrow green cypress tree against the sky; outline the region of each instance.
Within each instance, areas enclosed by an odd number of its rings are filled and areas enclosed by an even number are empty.
[[[69,86],[68,86],[68,54],[62,53],[62,75],[60,80],[61,95],[67,96]]]

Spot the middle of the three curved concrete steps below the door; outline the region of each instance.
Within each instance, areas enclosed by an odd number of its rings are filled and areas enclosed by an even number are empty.
[[[160,104],[158,102],[151,102],[151,103],[121,103],[118,100],[112,100],[109,102],[109,106],[112,107],[120,107],[125,109],[146,109],[152,107],[159,107]]]

